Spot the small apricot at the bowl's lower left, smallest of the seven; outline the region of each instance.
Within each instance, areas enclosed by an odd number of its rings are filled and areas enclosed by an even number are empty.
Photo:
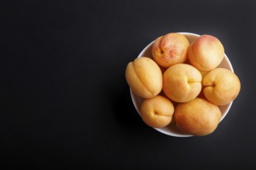
[[[163,128],[171,123],[174,106],[167,97],[157,95],[144,100],[140,107],[140,116],[145,124],[152,128]]]

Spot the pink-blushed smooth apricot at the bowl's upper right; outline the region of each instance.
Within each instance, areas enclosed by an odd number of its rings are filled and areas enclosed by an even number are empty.
[[[223,44],[214,36],[199,36],[189,46],[188,57],[192,66],[195,66],[198,70],[213,70],[223,60]]]

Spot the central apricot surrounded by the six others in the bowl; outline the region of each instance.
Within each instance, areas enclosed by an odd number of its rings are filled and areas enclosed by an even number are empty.
[[[194,66],[185,63],[170,66],[163,75],[164,94],[176,102],[197,97],[202,89],[202,75]]]

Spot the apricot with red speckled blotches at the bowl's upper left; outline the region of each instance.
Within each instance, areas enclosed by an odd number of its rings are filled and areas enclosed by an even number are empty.
[[[152,46],[154,61],[163,67],[184,63],[187,59],[189,40],[178,33],[168,33],[158,37]]]

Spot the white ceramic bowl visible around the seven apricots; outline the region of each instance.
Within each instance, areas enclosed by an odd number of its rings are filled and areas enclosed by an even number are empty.
[[[184,35],[187,39],[189,39],[189,43],[192,43],[196,38],[199,37],[198,34],[189,33],[189,32],[178,32],[178,33]],[[153,43],[154,43],[154,41],[150,42],[150,44],[148,44],[140,52],[138,57],[147,56],[147,57],[152,58],[151,48],[152,48]],[[220,66],[218,66],[218,67],[226,68],[226,69],[231,70],[232,72],[234,72],[233,67],[230,63],[230,60],[227,58],[226,54],[224,54],[223,61],[222,61],[222,63],[220,63]],[[130,95],[131,95],[131,98],[133,100],[134,107],[136,108],[137,112],[140,114],[140,106],[141,106],[142,102],[144,101],[144,99],[141,98],[141,97],[138,97],[135,93],[133,93],[132,90],[130,90]],[[228,111],[230,110],[230,107],[231,107],[232,103],[233,102],[220,107],[220,111],[221,111],[221,114],[222,114],[221,121],[227,115]],[[174,136],[174,137],[191,137],[191,136],[193,136],[191,134],[184,134],[182,131],[179,131],[178,128],[175,125],[168,125],[164,128],[154,128],[154,129],[157,130],[157,131],[160,131],[163,134],[167,134],[167,135]]]

